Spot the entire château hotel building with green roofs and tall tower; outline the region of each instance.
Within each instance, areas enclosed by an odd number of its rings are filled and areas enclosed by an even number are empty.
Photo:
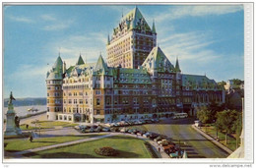
[[[66,68],[60,55],[47,72],[47,118],[86,123],[196,115],[200,106],[224,103],[224,88],[206,76],[181,73],[157,46],[155,23],[136,7],[108,35],[106,62]]]

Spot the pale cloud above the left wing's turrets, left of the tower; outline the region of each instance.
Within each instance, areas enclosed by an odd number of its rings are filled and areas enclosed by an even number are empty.
[[[100,52],[105,58],[105,44],[105,33],[92,32],[68,35],[50,42],[48,46],[51,48],[52,54],[56,55],[54,59],[57,58],[57,53],[60,51],[60,55],[68,68],[76,64],[80,53],[84,61],[87,60],[88,63],[96,62]],[[54,61],[51,61],[50,65],[53,65]]]

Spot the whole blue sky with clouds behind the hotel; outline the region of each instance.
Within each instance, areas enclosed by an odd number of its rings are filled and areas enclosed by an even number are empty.
[[[135,6],[5,6],[4,97],[45,97],[46,72],[58,52],[67,63],[106,58],[107,34]],[[160,48],[182,73],[217,82],[244,78],[243,6],[139,5]],[[49,65],[48,65],[49,64]]]

